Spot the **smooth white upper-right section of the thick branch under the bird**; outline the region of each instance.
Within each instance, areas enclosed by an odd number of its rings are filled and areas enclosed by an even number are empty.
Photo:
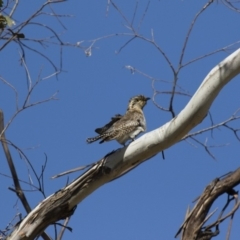
[[[180,141],[202,122],[221,89],[239,73],[240,49],[210,71],[186,107],[175,118],[109,156],[106,166],[115,171],[115,177],[119,176]]]

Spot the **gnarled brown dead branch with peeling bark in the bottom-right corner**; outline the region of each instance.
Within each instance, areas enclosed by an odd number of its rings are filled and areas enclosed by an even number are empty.
[[[234,187],[240,184],[240,168],[236,171],[231,172],[224,176],[223,178],[214,179],[203,191],[199,197],[194,208],[187,214],[187,217],[178,230],[175,237],[182,233],[182,240],[210,240],[212,237],[219,234],[219,224],[223,222],[229,216],[233,216],[236,210],[239,207],[240,202],[237,200],[237,192],[234,190]],[[205,222],[211,217],[208,216],[208,212],[214,203],[214,201],[223,194],[228,194],[228,200],[223,210],[220,213],[220,216],[217,221],[213,224],[210,224],[206,227],[203,227]],[[233,196],[231,199],[235,199],[235,206],[222,218],[223,212],[226,207],[229,205],[229,195]],[[211,228],[216,227],[216,231],[213,232]]]

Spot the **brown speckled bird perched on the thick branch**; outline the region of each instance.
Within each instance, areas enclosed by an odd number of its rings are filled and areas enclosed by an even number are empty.
[[[137,95],[129,100],[125,115],[116,114],[110,122],[101,128],[95,129],[99,135],[87,138],[87,143],[101,140],[99,143],[117,140],[125,146],[128,140],[134,141],[135,137],[146,130],[146,120],[143,108],[150,98]]]

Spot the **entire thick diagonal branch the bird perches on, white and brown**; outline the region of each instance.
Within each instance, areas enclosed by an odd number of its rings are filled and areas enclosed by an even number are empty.
[[[97,188],[180,141],[202,122],[222,88],[239,73],[240,50],[237,50],[210,71],[189,103],[174,119],[105,156],[67,187],[43,200],[19,223],[8,239],[34,239],[50,224],[73,214],[76,206]],[[224,186],[215,197],[226,189]],[[210,205],[214,200],[209,200]],[[201,215],[200,223],[202,219],[204,214]],[[189,229],[187,233],[185,229],[186,235],[191,237],[183,239],[194,239],[192,236],[196,236],[195,230]]]

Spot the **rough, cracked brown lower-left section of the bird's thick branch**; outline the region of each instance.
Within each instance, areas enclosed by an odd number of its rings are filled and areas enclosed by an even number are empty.
[[[83,191],[88,192],[90,185],[93,185],[94,189],[96,189],[102,185],[103,182],[110,180],[111,175],[109,174],[109,169],[104,167],[106,158],[107,157],[101,159],[73,183],[43,200],[16,226],[16,229],[8,239],[34,239],[50,224],[60,219],[70,217],[76,209],[76,204],[71,204],[72,199]],[[92,191],[93,189],[91,189],[88,194]],[[19,229],[21,229],[21,231],[19,231]]]

